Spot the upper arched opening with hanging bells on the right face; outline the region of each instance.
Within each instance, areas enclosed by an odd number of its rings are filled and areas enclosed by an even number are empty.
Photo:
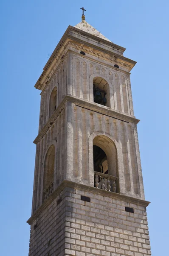
[[[93,99],[98,104],[110,107],[109,84],[102,77],[93,79]]]

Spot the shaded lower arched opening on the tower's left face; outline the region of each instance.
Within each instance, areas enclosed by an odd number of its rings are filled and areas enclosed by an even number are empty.
[[[55,146],[51,145],[45,156],[43,174],[43,201],[53,192],[54,185]]]

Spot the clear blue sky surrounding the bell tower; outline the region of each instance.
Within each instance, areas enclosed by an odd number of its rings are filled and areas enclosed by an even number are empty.
[[[68,25],[86,20],[138,63],[131,71],[152,255],[169,241],[169,2],[1,0],[0,255],[28,256],[38,133],[34,84]]]

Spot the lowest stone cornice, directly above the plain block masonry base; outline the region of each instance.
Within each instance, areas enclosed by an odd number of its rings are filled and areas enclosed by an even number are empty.
[[[87,186],[81,183],[76,183],[70,180],[63,180],[63,182],[57,187],[57,189],[46,199],[46,201],[36,210],[36,212],[33,213],[31,218],[28,219],[27,223],[31,225],[39,217],[39,215],[51,204],[51,202],[54,201],[54,199],[56,199],[56,197],[60,194],[60,192],[62,192],[66,187],[73,188],[73,189],[80,189],[87,192],[90,191],[98,195],[106,196],[109,198],[115,198],[120,201],[125,201],[127,203],[132,203],[132,204],[138,204],[144,207],[147,207],[150,204],[149,201],[145,201],[142,199],[133,198],[133,197],[118,194],[115,192],[109,192],[103,189],[97,189],[95,187]]]

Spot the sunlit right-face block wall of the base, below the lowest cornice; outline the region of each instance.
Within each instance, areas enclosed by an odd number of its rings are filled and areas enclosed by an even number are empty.
[[[111,197],[111,192],[101,195],[99,190],[71,189],[66,197],[65,255],[151,255],[146,207]],[[90,202],[82,201],[81,195]]]

